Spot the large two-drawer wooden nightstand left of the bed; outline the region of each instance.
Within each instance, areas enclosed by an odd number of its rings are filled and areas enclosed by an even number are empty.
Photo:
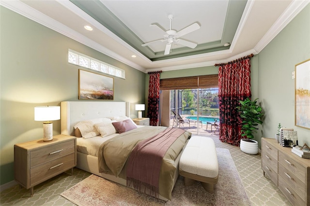
[[[67,135],[53,136],[14,145],[15,181],[26,189],[33,187],[77,165],[77,139]]]

